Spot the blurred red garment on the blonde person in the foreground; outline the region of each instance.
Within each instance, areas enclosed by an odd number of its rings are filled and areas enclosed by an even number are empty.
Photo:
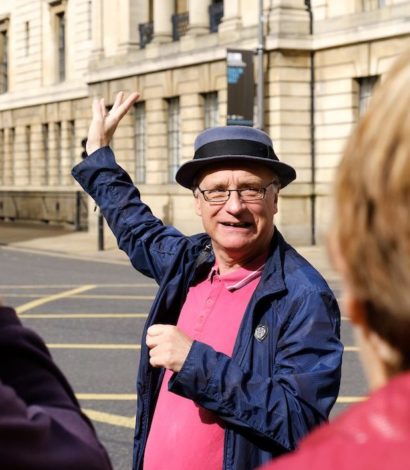
[[[409,470],[410,372],[307,436],[263,470]]]

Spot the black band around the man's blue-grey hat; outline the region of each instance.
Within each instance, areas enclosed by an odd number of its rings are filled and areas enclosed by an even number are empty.
[[[246,155],[249,157],[278,160],[273,148],[261,142],[246,139],[216,140],[202,145],[195,151],[194,160],[224,155]]]

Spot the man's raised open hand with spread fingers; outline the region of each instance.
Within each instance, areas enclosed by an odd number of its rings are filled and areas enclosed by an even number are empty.
[[[88,155],[110,143],[118,123],[138,100],[139,96],[138,92],[133,92],[128,98],[124,99],[125,94],[123,91],[120,91],[117,93],[114,104],[109,112],[105,108],[104,98],[94,98],[93,117],[87,137],[86,150]]]

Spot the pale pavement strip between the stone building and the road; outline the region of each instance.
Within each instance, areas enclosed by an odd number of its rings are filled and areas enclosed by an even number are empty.
[[[99,250],[95,234],[48,224],[0,222],[1,245],[49,254],[128,263],[127,256],[118,249],[112,236],[105,236],[104,250]],[[322,273],[328,282],[339,281],[339,276],[329,262],[324,245],[295,248]]]

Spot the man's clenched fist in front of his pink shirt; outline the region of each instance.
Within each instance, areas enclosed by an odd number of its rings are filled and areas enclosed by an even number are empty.
[[[179,372],[193,340],[173,325],[152,325],[147,331],[150,364]]]

